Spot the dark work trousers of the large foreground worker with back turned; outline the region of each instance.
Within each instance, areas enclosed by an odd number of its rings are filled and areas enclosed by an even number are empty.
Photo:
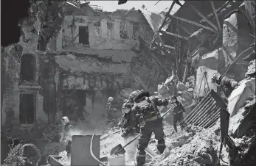
[[[165,151],[165,138],[164,138],[164,129],[163,129],[163,123],[162,118],[150,121],[145,124],[145,126],[140,127],[140,134],[139,137],[139,145],[137,147],[137,166],[143,166],[145,165],[146,160],[146,152],[145,148],[148,147],[148,143],[151,140],[151,134],[155,134],[157,142],[157,150],[162,154]]]

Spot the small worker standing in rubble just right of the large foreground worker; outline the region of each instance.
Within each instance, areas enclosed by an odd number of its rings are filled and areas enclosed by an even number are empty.
[[[183,105],[177,100],[177,97],[173,95],[171,98],[170,104],[173,107],[173,128],[176,132],[177,131],[177,122],[181,122],[183,120],[183,113],[185,112],[185,109]],[[181,124],[180,124],[181,126]],[[182,129],[182,126],[181,126]]]

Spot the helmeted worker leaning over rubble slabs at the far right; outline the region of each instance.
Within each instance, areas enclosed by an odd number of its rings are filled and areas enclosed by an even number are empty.
[[[221,88],[221,97],[227,102],[226,98],[232,93],[235,87],[238,86],[238,82],[234,79],[229,79],[226,76],[222,76],[220,73],[214,73],[212,76],[212,83]]]

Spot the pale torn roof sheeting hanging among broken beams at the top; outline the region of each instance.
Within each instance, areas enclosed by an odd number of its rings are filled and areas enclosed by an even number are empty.
[[[181,4],[184,4],[184,1],[180,1]],[[171,3],[170,3],[171,5]],[[158,31],[159,27],[162,25],[163,21],[165,20],[165,14],[170,9],[170,7],[165,8],[161,12],[151,12],[148,10],[139,10],[144,15],[145,19],[148,21],[148,24],[153,29],[153,32]],[[173,9],[170,11],[170,15],[174,15],[180,9],[179,4],[174,4]],[[166,31],[167,27],[169,26],[170,21],[168,24],[163,26],[162,31]]]

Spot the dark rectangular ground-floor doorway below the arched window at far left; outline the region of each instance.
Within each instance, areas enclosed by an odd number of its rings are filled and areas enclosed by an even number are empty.
[[[32,124],[35,121],[35,95],[20,95],[19,120],[21,124]]]

